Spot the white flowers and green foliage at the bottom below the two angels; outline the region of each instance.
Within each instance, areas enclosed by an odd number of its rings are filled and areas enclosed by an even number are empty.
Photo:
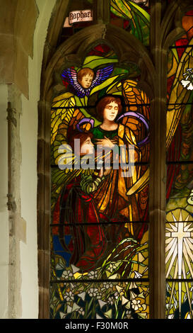
[[[123,249],[122,246],[124,246]],[[131,249],[129,254],[127,254],[128,249]],[[121,277],[119,271],[122,265],[127,263],[131,266],[136,254],[146,251],[147,243],[137,244],[133,238],[123,239],[98,269],[86,274],[77,273],[78,269],[73,265],[66,267],[62,257],[54,256],[51,261],[51,276],[54,279],[62,279],[64,283],[52,283],[51,317],[65,319],[141,319],[146,317],[148,284],[137,280],[136,283],[114,280],[116,274],[117,278]],[[117,256],[122,254],[124,259],[117,260]],[[143,265],[141,262],[138,264]],[[103,278],[107,277],[108,281],[103,281]],[[129,278],[129,275],[127,277]]]

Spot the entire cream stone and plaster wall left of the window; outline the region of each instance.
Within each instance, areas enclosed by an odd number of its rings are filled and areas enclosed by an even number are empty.
[[[55,2],[0,0],[0,318],[38,317],[37,103]]]

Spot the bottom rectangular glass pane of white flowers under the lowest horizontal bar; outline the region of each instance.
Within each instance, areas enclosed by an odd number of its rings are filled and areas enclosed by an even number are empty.
[[[52,283],[50,299],[50,317],[56,319],[149,317],[148,283]]]

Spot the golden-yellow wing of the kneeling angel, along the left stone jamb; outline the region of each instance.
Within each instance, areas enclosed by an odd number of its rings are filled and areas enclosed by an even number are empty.
[[[76,107],[74,95],[64,93],[54,98],[51,111],[51,164],[52,168],[52,208],[62,188],[79,174],[92,174],[90,169],[74,169],[77,157],[68,147],[71,130],[85,118]],[[82,123],[80,129],[90,130],[90,123]],[[63,168],[63,164],[65,167]]]

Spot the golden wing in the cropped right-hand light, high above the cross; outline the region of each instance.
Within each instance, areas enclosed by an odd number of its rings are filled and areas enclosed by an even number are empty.
[[[192,45],[193,38],[189,40],[189,45]],[[187,47],[178,63],[175,80],[172,84],[172,91],[168,103],[167,111],[167,129],[166,129],[166,147],[170,146],[172,138],[175,135],[175,130],[180,122],[183,111],[186,108],[186,103],[192,103],[192,91],[188,86],[183,86],[182,80],[186,81],[187,69],[193,68],[193,49]],[[183,105],[180,105],[183,103]]]

